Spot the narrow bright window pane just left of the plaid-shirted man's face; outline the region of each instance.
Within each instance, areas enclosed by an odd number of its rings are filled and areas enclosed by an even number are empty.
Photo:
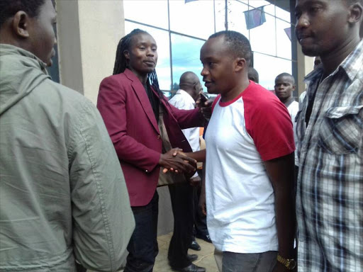
[[[276,19],[277,57],[291,60],[291,24]]]

